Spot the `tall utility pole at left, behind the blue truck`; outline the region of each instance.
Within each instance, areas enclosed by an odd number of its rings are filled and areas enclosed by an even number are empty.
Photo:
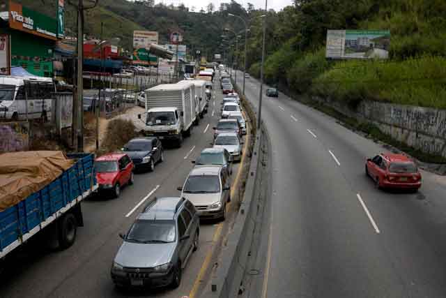
[[[99,0],[93,0],[94,3],[90,5],[84,5],[84,0],[78,0],[77,4],[72,0],[68,0],[71,6],[77,8],[77,87],[76,96],[73,98],[73,110],[75,121],[73,129],[75,130],[75,140],[77,143],[76,149],[78,152],[84,152],[84,76],[83,76],[83,63],[84,63],[84,10],[95,8],[98,5]]]

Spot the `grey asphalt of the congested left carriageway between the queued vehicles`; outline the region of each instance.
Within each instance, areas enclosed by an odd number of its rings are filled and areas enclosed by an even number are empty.
[[[220,89],[220,88],[218,88]],[[48,251],[35,241],[8,258],[1,275],[0,297],[182,297],[189,295],[203,260],[210,250],[218,222],[203,222],[199,250],[183,271],[177,290],[118,291],[110,277],[112,261],[122,243],[119,232],[127,232],[145,202],[134,209],[148,193],[178,196],[192,170],[191,161],[201,149],[210,147],[213,127],[220,119],[221,91],[209,102],[208,114],[194,126],[192,137],[180,149],[165,149],[164,162],[155,172],[135,174],[134,185],[123,188],[118,199],[91,198],[82,203],[84,227],[77,230],[75,244],[66,251]],[[215,112],[214,112],[215,111]],[[238,164],[233,169],[236,176]],[[147,201],[146,201],[147,202]],[[134,210],[134,211],[132,211]]]

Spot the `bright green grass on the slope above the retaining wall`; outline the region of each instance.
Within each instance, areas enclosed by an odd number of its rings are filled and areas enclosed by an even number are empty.
[[[445,57],[344,61],[316,78],[312,93],[351,105],[367,99],[446,108],[445,77]]]

